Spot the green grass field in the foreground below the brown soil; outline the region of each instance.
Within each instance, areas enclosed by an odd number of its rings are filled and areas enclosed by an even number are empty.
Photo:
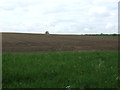
[[[117,88],[117,52],[3,54],[3,88]]]

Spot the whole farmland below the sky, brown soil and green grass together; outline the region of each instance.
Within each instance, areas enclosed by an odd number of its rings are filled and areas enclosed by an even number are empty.
[[[117,88],[118,37],[3,33],[3,88]]]

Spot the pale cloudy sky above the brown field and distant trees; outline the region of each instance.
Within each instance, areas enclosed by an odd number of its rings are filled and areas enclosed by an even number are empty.
[[[119,0],[0,0],[0,32],[118,33]]]

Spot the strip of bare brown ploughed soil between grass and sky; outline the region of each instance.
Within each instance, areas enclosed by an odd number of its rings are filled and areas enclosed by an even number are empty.
[[[2,33],[3,52],[117,51],[118,37]]]

